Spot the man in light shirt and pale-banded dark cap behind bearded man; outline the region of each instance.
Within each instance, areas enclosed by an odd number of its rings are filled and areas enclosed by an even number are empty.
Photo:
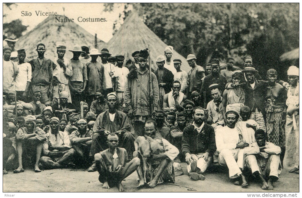
[[[209,113],[209,117],[207,119],[207,123],[211,124],[211,126],[216,131],[218,126],[224,126],[224,120],[222,115],[222,97],[221,97],[221,89],[222,87],[219,84],[211,84],[209,86],[209,90],[213,100],[211,100],[207,104],[207,110]]]

